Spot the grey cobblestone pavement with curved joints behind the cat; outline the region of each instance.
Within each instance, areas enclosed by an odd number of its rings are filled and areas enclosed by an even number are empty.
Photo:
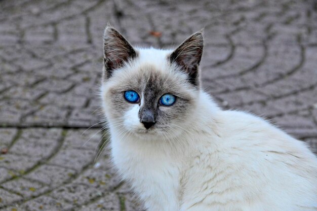
[[[107,22],[163,48],[205,26],[205,90],[317,150],[316,1],[1,0],[0,11],[0,210],[142,210],[107,153],[95,162]]]

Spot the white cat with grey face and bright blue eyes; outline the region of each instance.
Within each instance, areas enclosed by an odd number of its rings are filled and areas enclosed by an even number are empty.
[[[111,157],[150,211],[317,210],[317,158],[267,121],[201,88],[203,34],[175,50],[104,33],[102,108]]]

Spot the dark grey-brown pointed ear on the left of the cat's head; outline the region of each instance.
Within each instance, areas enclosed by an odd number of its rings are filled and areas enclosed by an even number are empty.
[[[112,76],[115,69],[122,67],[124,62],[137,56],[131,44],[112,27],[107,26],[104,32],[104,80]]]

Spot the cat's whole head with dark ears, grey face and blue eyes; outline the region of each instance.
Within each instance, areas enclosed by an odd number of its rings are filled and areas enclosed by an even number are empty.
[[[133,48],[107,27],[101,97],[110,126],[146,139],[184,133],[198,103],[203,46],[196,32],[175,50]]]

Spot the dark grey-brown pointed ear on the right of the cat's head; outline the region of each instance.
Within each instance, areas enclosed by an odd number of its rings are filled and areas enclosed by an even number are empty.
[[[199,84],[199,64],[203,55],[204,38],[202,32],[196,32],[187,38],[170,55],[170,61],[175,62],[181,70],[188,74],[191,84]]]

